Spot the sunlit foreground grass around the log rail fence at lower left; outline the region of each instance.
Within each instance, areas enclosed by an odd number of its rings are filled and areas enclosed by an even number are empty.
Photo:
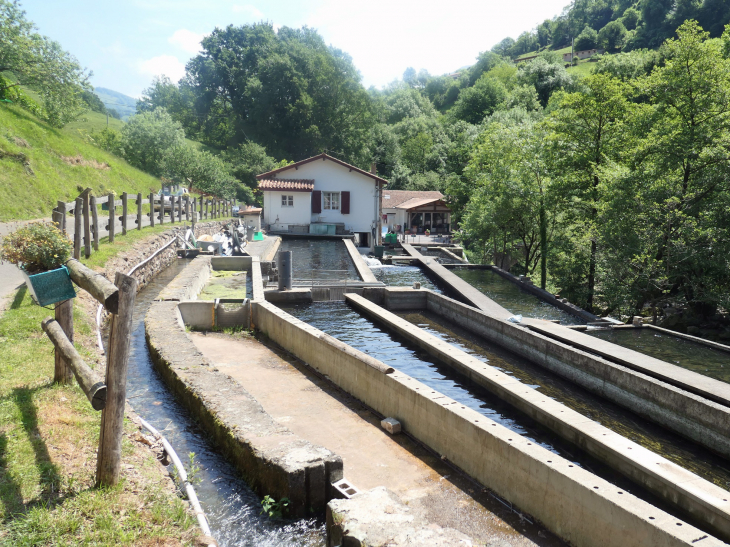
[[[90,262],[103,264],[169,228],[102,242]],[[53,384],[52,344],[40,328],[48,315],[22,288],[0,316],[0,545],[191,544],[195,519],[133,424],[126,424],[122,481],[94,488],[101,415],[78,386]],[[89,363],[97,358],[92,321],[75,306],[75,345]]]

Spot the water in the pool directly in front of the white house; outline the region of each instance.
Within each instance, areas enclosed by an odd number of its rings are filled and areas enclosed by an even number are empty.
[[[284,238],[279,251],[292,252],[294,285],[312,280],[360,279],[342,240]]]

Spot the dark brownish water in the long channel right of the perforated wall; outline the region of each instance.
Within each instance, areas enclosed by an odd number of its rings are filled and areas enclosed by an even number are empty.
[[[568,408],[676,463],[721,488],[730,490],[730,463],[692,442],[644,420],[616,404],[560,378],[526,359],[490,344],[429,312],[399,313],[417,325],[483,362],[513,375]]]

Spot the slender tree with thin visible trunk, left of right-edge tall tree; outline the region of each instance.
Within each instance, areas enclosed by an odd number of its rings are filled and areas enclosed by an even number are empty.
[[[627,139],[625,119],[631,110],[628,86],[604,74],[583,80],[584,91],[562,97],[547,120],[556,162],[562,173],[558,185],[573,200],[576,222],[590,237],[587,278],[583,287],[566,287],[589,311],[596,303],[598,242],[595,237],[601,169],[619,158]]]

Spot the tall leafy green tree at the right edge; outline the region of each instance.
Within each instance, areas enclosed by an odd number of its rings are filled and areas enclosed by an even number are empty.
[[[619,303],[672,299],[712,315],[730,304],[730,61],[695,21],[677,36],[640,82],[651,104],[635,123],[635,167],[612,173],[604,238],[615,249],[608,267],[622,264]]]

